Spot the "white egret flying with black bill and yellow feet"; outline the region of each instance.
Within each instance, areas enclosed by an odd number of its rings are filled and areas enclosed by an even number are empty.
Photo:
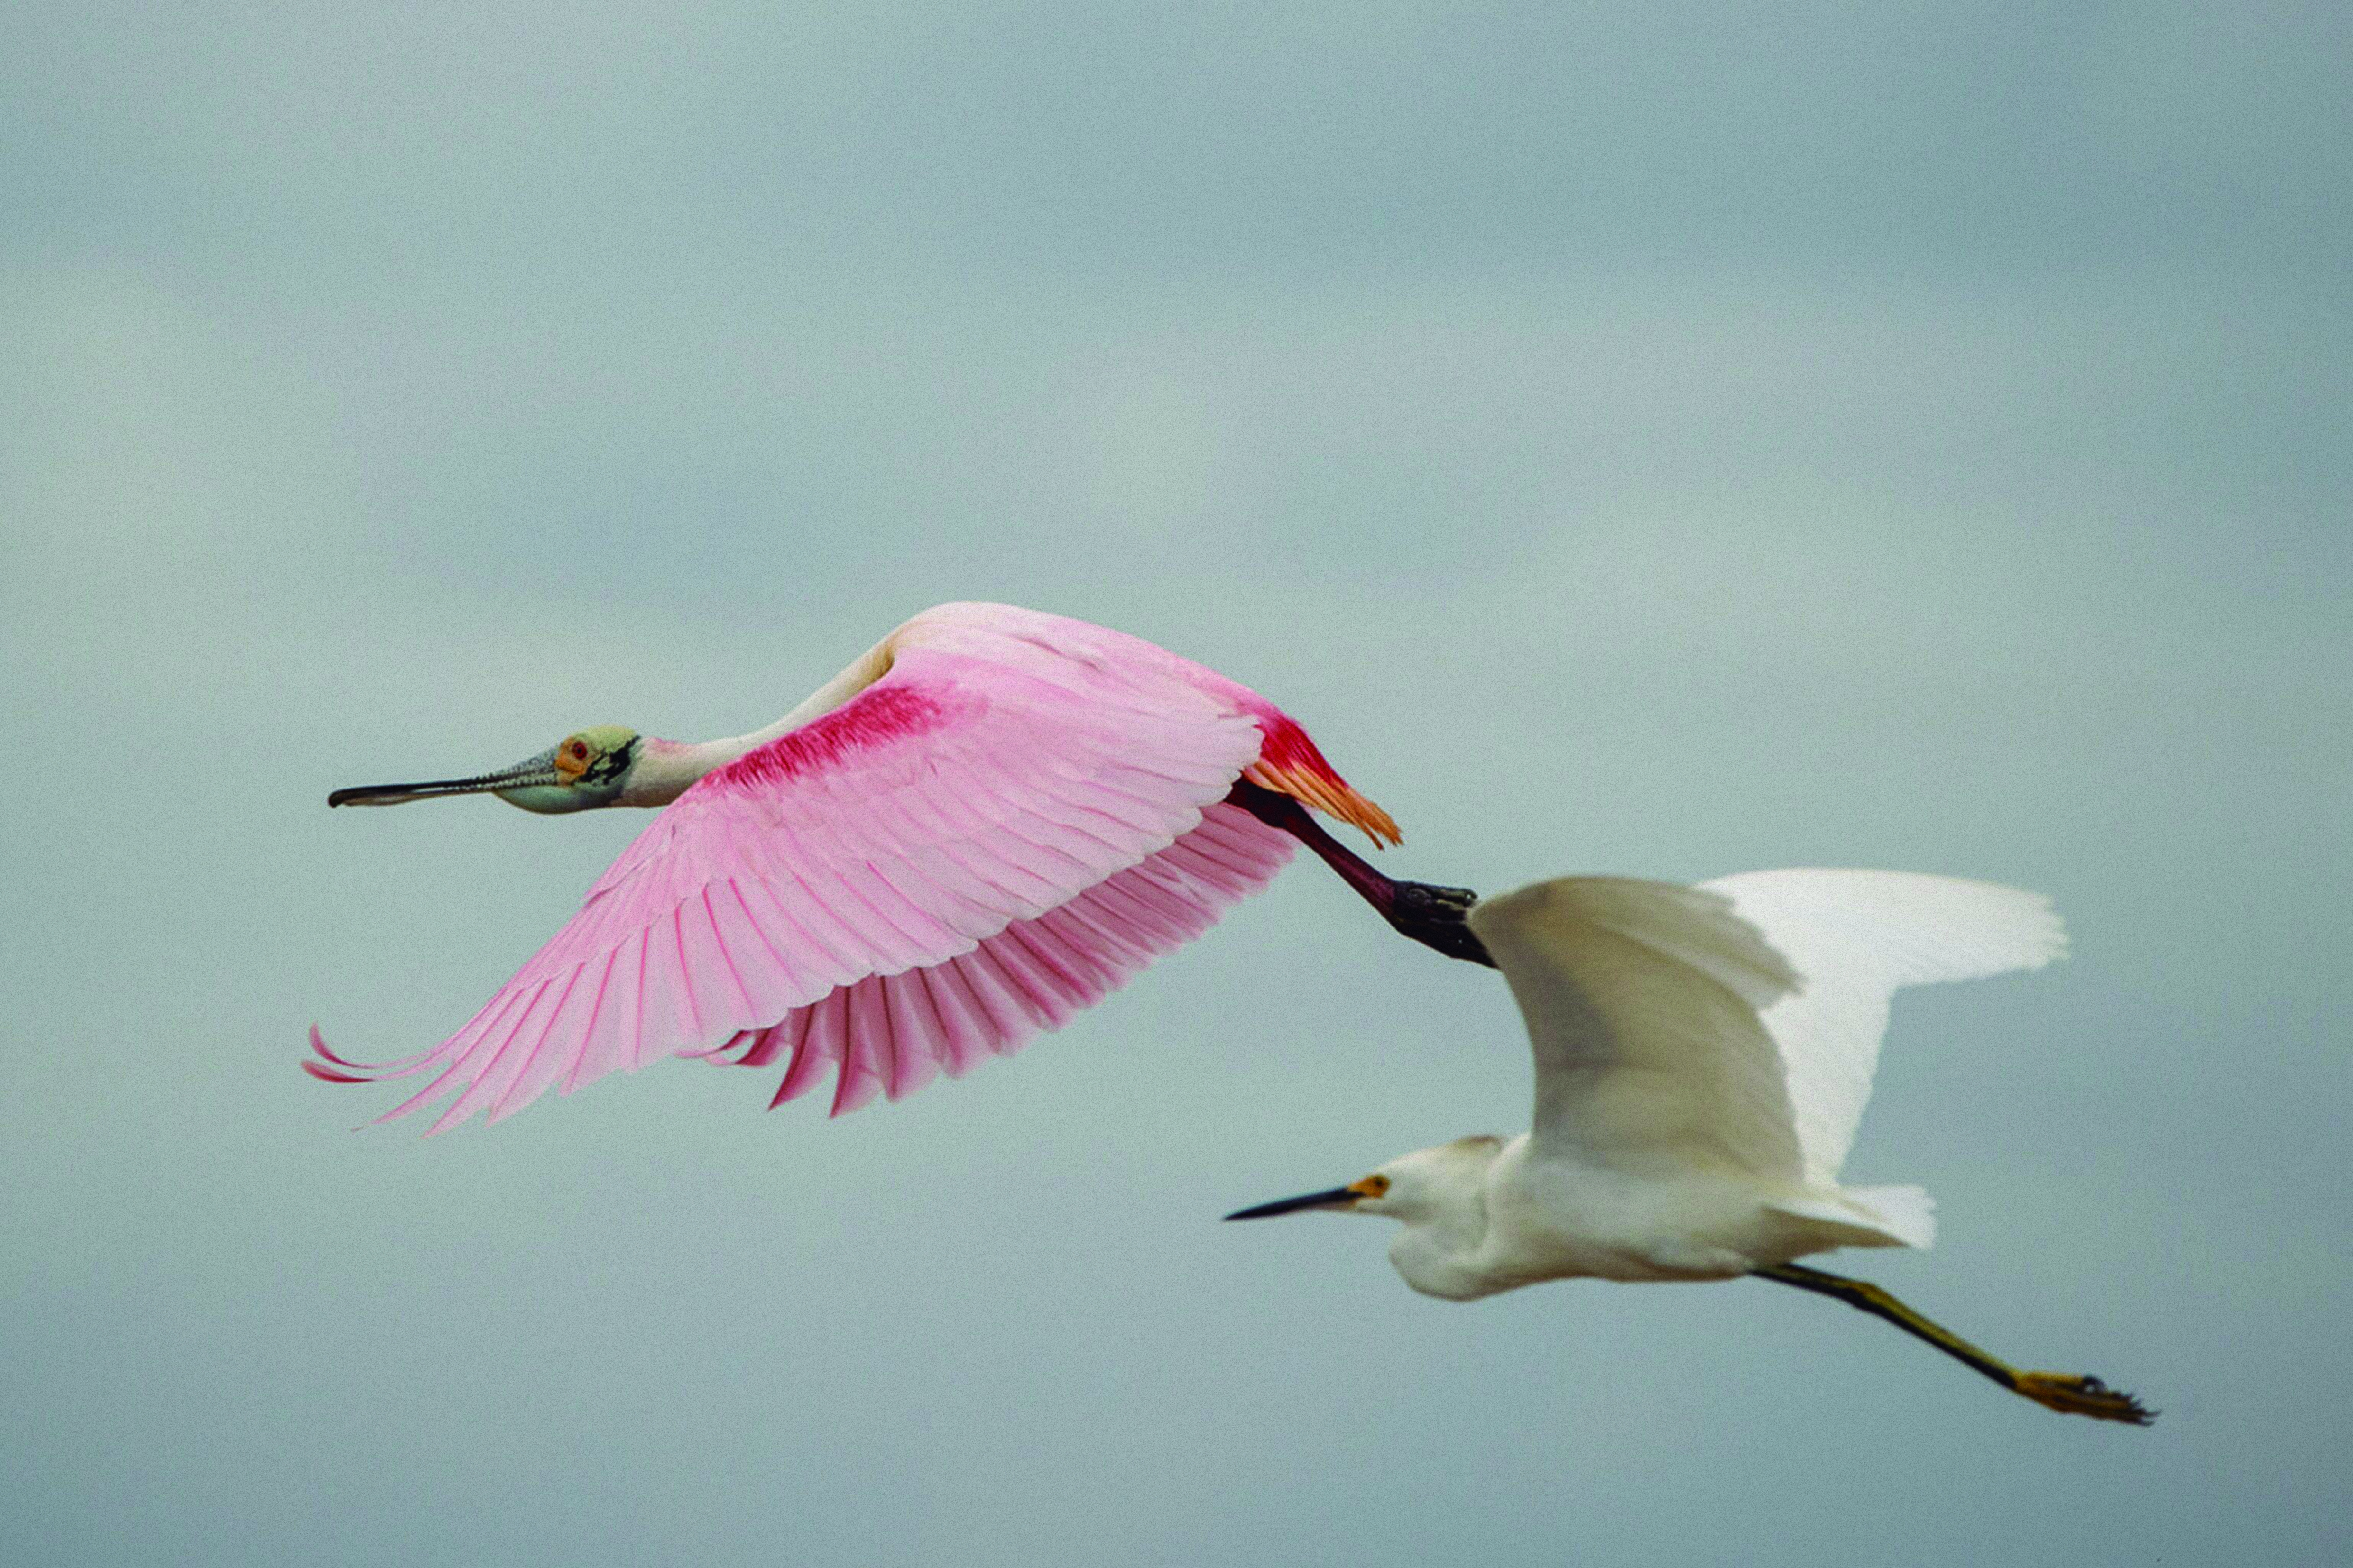
[[[1772,1279],[1882,1316],[2052,1410],[2148,1425],[2097,1378],[2021,1373],[1878,1286],[1798,1258],[1929,1246],[1920,1187],[1845,1187],[1887,1001],[2040,969],[2049,900],[1906,872],[1793,870],[1699,886],[1560,877],[1471,910],[1537,1053],[1534,1128],[1457,1138],[1372,1175],[1226,1215],[1377,1213],[1414,1291],[1544,1279]]]

